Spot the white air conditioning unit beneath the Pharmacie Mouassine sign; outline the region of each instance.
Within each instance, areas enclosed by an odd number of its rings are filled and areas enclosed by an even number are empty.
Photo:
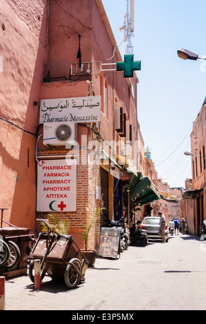
[[[43,123],[44,145],[75,145],[77,125],[74,122]]]

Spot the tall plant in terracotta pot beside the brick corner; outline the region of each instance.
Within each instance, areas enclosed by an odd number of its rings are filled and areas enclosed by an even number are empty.
[[[99,213],[103,209],[104,208],[98,208],[96,210],[92,219],[90,219],[90,221],[88,221],[88,223],[85,225],[85,229],[83,230],[83,233],[82,233],[82,239],[85,244],[85,248],[84,248],[84,250],[82,250],[82,252],[85,255],[85,257],[87,258],[87,260],[90,262],[89,266],[94,266],[94,263],[96,261],[96,250],[88,249],[88,237],[89,237],[89,233],[90,233],[93,223],[98,219]]]

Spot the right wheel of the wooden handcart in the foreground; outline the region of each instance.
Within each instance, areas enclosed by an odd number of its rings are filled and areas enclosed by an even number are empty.
[[[73,258],[67,265],[64,272],[64,281],[69,288],[74,288],[81,281],[81,261]]]

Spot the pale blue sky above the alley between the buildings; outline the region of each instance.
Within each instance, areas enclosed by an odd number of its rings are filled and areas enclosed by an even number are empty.
[[[117,45],[126,13],[126,0],[102,0]],[[151,148],[158,177],[171,187],[185,188],[192,177],[190,149],[192,124],[206,97],[205,61],[178,58],[178,48],[206,55],[206,1],[134,0],[134,61],[138,121],[145,143]],[[125,54],[125,42],[119,50]],[[205,65],[203,65],[205,64]]]

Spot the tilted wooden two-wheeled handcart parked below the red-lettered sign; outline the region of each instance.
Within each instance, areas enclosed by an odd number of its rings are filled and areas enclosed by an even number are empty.
[[[30,253],[29,276],[34,283],[34,260],[41,261],[41,281],[45,274],[52,279],[64,278],[70,289],[85,281],[89,261],[74,242],[71,235],[63,235],[50,228],[47,220],[39,219],[48,227],[47,233],[40,233]]]

